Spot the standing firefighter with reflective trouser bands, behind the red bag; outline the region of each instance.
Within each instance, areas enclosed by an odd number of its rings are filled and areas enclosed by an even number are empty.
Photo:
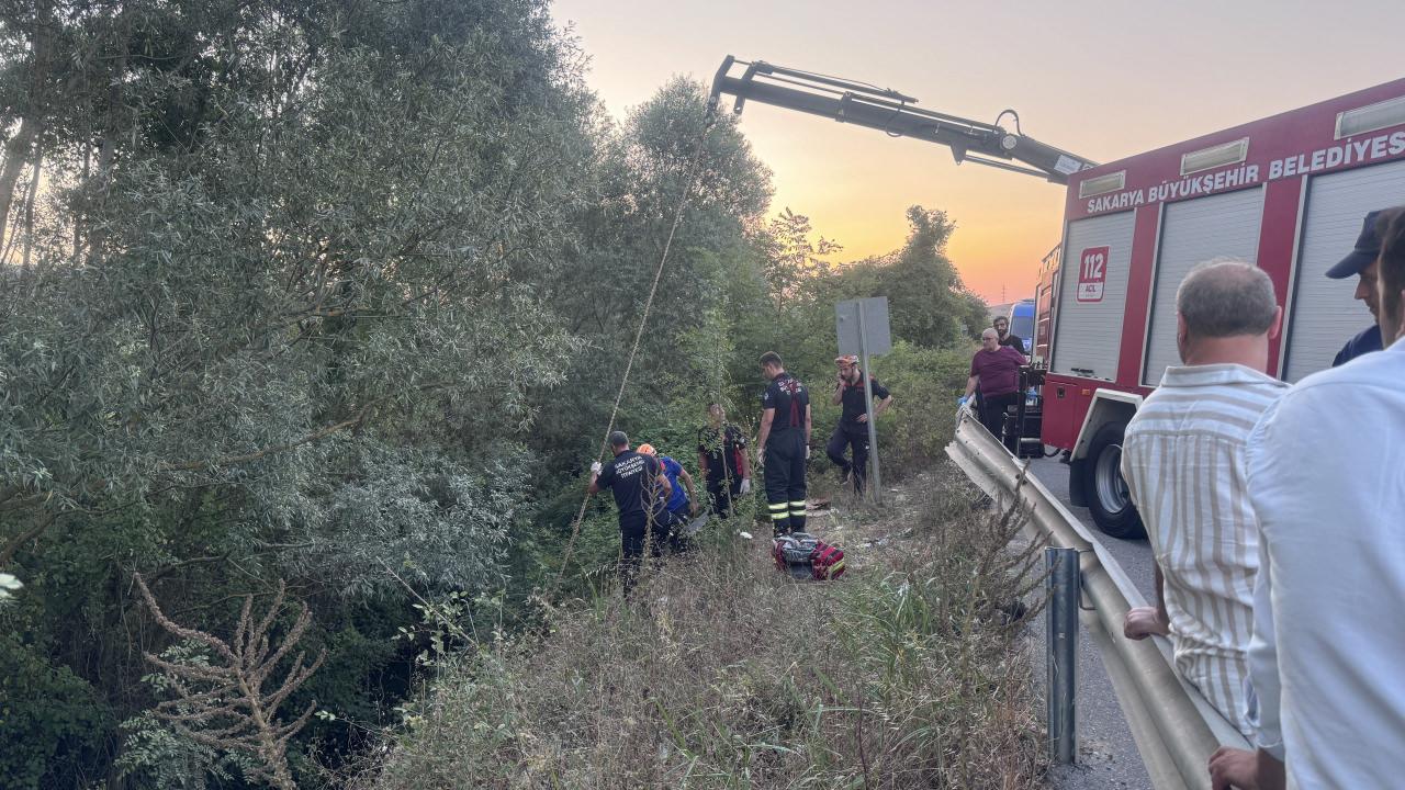
[[[776,536],[805,531],[805,458],[809,457],[809,391],[785,373],[776,351],[762,354],[762,430],[756,454],[766,464],[766,503]]]

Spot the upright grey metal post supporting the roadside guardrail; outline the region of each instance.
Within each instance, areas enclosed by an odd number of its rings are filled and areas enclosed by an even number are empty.
[[[1048,569],[1048,624],[1044,628],[1048,665],[1050,759],[1073,762],[1078,749],[1075,690],[1078,680],[1078,550],[1044,550]]]

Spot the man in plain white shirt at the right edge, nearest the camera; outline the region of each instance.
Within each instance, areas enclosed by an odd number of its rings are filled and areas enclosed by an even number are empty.
[[[1380,222],[1385,350],[1304,378],[1249,439],[1256,742],[1288,787],[1402,784],[1405,208]]]

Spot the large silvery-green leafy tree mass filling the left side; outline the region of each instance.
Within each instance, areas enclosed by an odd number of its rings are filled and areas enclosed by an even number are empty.
[[[87,786],[150,706],[132,572],[212,634],[287,579],[320,644],[393,634],[386,565],[502,583],[603,156],[544,0],[0,3],[0,673],[90,685],[0,772]]]

